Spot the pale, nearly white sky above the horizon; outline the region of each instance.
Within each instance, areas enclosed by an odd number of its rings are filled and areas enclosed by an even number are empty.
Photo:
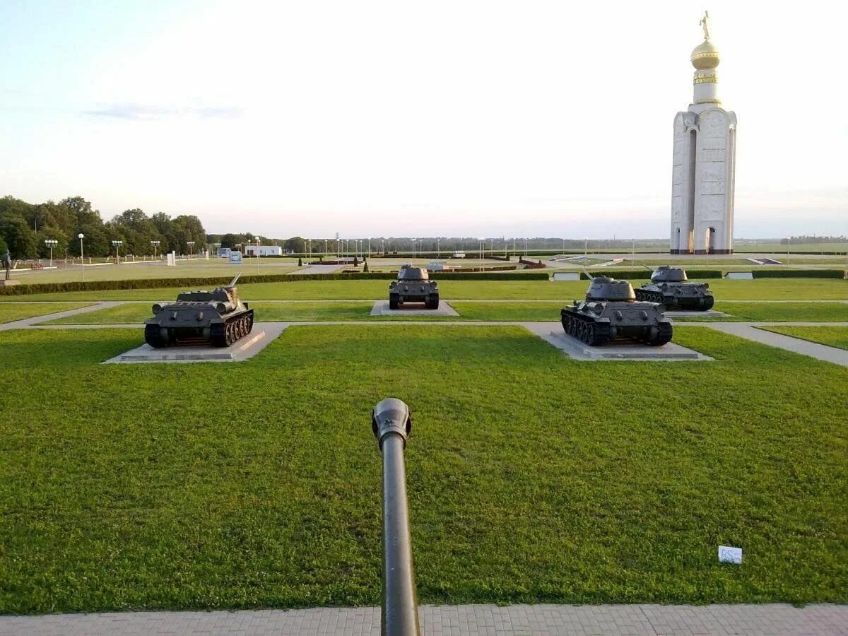
[[[265,236],[666,237],[710,11],[736,237],[848,233],[848,5],[0,0],[0,196]]]

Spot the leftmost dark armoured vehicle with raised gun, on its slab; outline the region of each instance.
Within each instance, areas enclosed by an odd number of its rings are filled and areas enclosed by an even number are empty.
[[[229,347],[247,336],[254,328],[254,310],[238,299],[241,275],[211,292],[184,292],[174,303],[153,304],[153,318],[144,321],[144,341],[156,349],[202,343]]]

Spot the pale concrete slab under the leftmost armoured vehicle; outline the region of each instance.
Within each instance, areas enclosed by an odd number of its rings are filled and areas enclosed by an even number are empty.
[[[265,349],[282,331],[287,323],[273,326],[263,325],[250,333],[247,338],[239,340],[231,347],[213,347],[211,344],[196,344],[177,347],[154,349],[148,343],[136,349],[130,349],[103,362],[109,364],[138,364],[148,362],[237,362],[254,357]]]

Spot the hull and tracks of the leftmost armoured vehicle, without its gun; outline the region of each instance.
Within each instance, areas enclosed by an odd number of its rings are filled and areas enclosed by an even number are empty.
[[[209,310],[212,310],[210,307]],[[201,314],[198,317],[198,313]],[[144,342],[155,349],[179,344],[205,344],[229,347],[248,335],[254,328],[254,310],[232,311],[204,319],[198,307],[181,308],[179,304],[165,307],[160,315],[144,323]]]

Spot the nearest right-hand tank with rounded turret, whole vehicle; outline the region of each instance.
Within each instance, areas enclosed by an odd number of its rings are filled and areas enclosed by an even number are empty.
[[[672,321],[662,304],[636,300],[628,281],[596,276],[586,299],[561,311],[566,333],[591,346],[611,340],[636,340],[661,346],[672,339]]]

